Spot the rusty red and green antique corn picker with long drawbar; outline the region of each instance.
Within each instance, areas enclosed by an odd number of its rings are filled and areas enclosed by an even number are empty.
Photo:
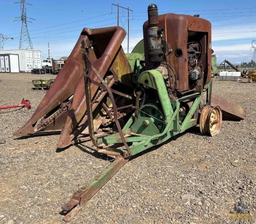
[[[16,136],[60,132],[58,148],[92,141],[115,158],[62,206],[71,221],[134,155],[199,124],[214,136],[222,116],[245,118],[244,108],[211,93],[211,24],[147,8],[143,40],[124,54],[120,27],[84,28],[66,64]]]

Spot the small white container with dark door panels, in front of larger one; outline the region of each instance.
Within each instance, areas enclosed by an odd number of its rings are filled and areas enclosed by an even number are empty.
[[[19,72],[18,55],[0,55],[0,72]]]

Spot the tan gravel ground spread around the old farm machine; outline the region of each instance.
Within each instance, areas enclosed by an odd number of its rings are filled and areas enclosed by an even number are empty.
[[[74,145],[56,151],[58,135],[17,138],[45,92],[31,80],[52,75],[0,73],[0,223],[63,223],[60,207],[110,162]],[[84,206],[73,223],[256,223],[229,220],[242,198],[256,211],[256,84],[214,81],[213,91],[244,106],[243,121],[223,121],[221,133],[195,127],[127,163]]]

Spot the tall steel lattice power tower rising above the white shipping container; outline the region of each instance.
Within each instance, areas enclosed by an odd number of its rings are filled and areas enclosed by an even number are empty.
[[[20,32],[20,39],[19,39],[19,49],[33,49],[32,41],[29,36],[28,24],[27,22],[31,22],[28,19],[35,20],[33,18],[27,17],[26,13],[26,5],[33,6],[29,3],[26,3],[26,0],[20,0],[20,2],[15,2],[15,4],[20,4],[20,17],[14,17],[15,20],[19,21],[22,20],[22,31]],[[32,22],[31,22],[32,23]]]

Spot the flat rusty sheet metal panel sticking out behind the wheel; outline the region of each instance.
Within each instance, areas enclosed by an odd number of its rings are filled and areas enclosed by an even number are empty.
[[[227,119],[243,120],[246,117],[245,108],[237,104],[233,104],[227,99],[224,99],[214,94],[211,94],[210,106],[211,107],[219,106],[222,110],[223,117]]]

